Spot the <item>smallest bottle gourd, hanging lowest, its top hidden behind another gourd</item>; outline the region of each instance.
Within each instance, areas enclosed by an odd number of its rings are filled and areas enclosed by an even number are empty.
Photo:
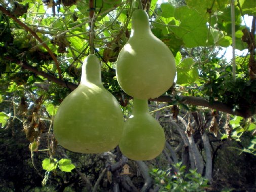
[[[124,124],[120,150],[131,160],[146,161],[156,158],[164,146],[163,128],[149,113],[148,100],[134,98],[132,115]]]

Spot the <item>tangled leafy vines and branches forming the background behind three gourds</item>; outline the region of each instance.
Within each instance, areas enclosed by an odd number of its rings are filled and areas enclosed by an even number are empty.
[[[175,175],[185,178],[189,169],[209,179],[209,186],[198,190],[255,190],[255,2],[235,1],[236,49],[247,50],[236,55],[236,81],[232,61],[220,56],[232,45],[230,1],[141,2],[152,32],[173,52],[177,66],[176,84],[149,101],[165,130],[166,147],[147,162],[128,160],[118,147],[98,155],[74,153],[53,137],[56,108],[77,87],[89,53],[89,1],[0,1],[2,191],[174,190]],[[120,102],[125,119],[132,100],[117,83],[115,62],[131,32],[132,5],[97,0],[93,7],[102,83]],[[245,15],[251,27],[242,22]],[[76,168],[44,170],[48,158],[70,159]],[[175,167],[178,162],[184,172]],[[125,164],[130,175],[121,175]],[[153,174],[155,169],[160,172]],[[195,173],[193,187],[202,178]]]

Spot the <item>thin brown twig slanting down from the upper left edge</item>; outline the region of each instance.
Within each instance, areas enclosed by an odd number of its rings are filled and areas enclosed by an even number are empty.
[[[43,40],[38,36],[38,34],[36,34],[31,28],[29,28],[25,23],[23,23],[22,21],[20,21],[17,17],[15,17],[10,11],[6,10],[5,8],[3,8],[2,6],[0,6],[0,11],[2,11],[4,14],[6,14],[7,16],[9,16],[10,18],[12,18],[16,23],[18,23],[20,26],[22,26],[25,30],[29,31],[36,40],[38,40],[42,46],[48,51],[48,53],[51,55],[51,57],[53,58],[53,61],[55,62],[56,68],[58,70],[58,74],[59,74],[59,78],[62,79],[61,76],[61,69],[59,67],[59,63],[57,61],[57,58],[55,57],[54,53],[52,52],[52,50],[43,42]]]

